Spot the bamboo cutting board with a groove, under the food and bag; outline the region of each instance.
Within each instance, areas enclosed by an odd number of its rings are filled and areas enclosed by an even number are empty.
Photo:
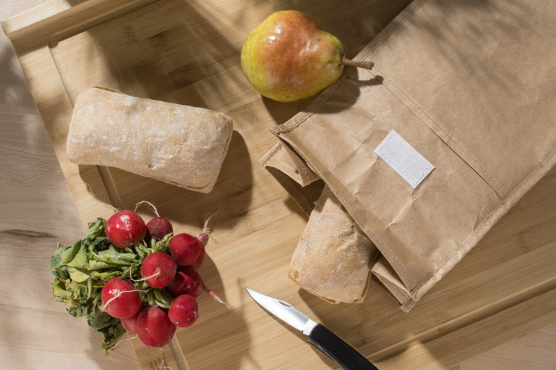
[[[310,99],[261,98],[240,69],[243,41],[271,12],[293,8],[338,36],[350,58],[408,3],[54,0],[2,23],[83,222],[109,217],[112,206],[134,209],[150,201],[174,230],[197,233],[216,212],[199,272],[231,310],[202,296],[199,321],[177,331],[192,369],[337,368],[261,310],[244,287],[292,303],[380,368],[451,367],[556,322],[554,170],[409,313],[374,283],[365,303],[330,305],[286,277],[306,217],[258,160],[275,143],[268,128]],[[90,85],[229,115],[234,135],[213,192],[68,162],[72,103]],[[138,212],[153,216],[145,206]],[[137,340],[133,348],[143,369],[158,367],[159,351]],[[172,353],[166,349],[165,358],[176,369],[180,359]]]

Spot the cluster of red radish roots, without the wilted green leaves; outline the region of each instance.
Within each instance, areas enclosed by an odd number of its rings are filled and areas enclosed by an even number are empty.
[[[178,327],[197,321],[197,297],[202,293],[214,296],[197,273],[208,230],[197,236],[173,235],[172,224],[163,217],[145,224],[136,212],[121,210],[106,221],[106,236],[113,246],[135,248],[145,257],[141,278],[133,279],[130,269],[129,276],[108,280],[101,292],[101,310],[120,319],[147,346],[165,346]]]

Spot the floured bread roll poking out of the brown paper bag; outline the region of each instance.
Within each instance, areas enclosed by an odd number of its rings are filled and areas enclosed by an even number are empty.
[[[361,303],[376,251],[326,186],[293,252],[288,277],[330,303]]]

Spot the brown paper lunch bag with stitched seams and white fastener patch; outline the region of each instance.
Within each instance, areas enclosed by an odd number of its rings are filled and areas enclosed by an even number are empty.
[[[372,71],[272,128],[296,183],[313,171],[376,244],[402,309],[556,164],[555,25],[546,1],[414,1],[357,56]],[[434,166],[416,187],[375,153],[391,131]]]

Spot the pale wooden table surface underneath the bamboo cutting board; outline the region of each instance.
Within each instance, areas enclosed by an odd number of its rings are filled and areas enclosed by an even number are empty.
[[[2,0],[0,19],[42,2]],[[99,351],[101,335],[83,320],[70,317],[51,297],[52,276],[46,268],[49,255],[56,242],[80,239],[85,226],[13,47],[3,33],[0,94],[0,268],[4,276],[0,285],[0,367],[138,369],[129,342],[122,342],[105,357]],[[528,334],[531,331],[521,330],[524,337],[500,348],[486,346],[485,351],[490,351],[455,369],[556,369],[556,326]],[[509,341],[504,339],[505,333],[504,329],[496,333],[497,344]],[[515,333],[507,337],[513,339]]]

